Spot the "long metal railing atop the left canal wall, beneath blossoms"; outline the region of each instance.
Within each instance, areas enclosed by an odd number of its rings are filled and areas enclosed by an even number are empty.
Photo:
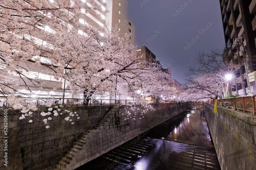
[[[63,106],[96,106],[96,105],[114,105],[114,104],[141,104],[141,103],[172,103],[175,101],[165,102],[163,100],[112,100],[112,99],[90,99],[86,101],[85,99],[75,99],[75,98],[29,98],[24,97],[26,102],[23,104],[24,107],[29,104],[34,104],[36,106],[44,106],[44,102],[51,102],[52,104],[62,101]],[[12,104],[9,104],[5,96],[0,96],[0,109],[12,108]]]

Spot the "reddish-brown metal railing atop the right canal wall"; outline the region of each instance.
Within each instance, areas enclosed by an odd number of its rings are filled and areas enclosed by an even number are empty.
[[[255,96],[218,99],[217,105],[255,115]],[[207,103],[215,104],[215,100],[208,100]]]

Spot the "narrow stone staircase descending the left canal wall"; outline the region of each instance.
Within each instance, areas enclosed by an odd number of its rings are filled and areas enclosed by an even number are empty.
[[[108,124],[110,119],[114,116],[114,114],[119,110],[120,106],[115,105],[108,114],[98,123],[94,124],[87,133],[79,139],[77,143],[73,146],[73,149],[69,152],[69,154],[59,161],[59,164],[53,168],[53,170],[67,170],[72,162],[76,159],[79,155],[80,151],[83,150],[91,140],[93,140],[93,136],[98,132],[101,132],[102,129]]]

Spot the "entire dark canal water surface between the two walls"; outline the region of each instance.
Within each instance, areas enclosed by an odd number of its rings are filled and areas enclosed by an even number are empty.
[[[211,170],[220,166],[204,111],[193,107],[76,170],[82,169]]]

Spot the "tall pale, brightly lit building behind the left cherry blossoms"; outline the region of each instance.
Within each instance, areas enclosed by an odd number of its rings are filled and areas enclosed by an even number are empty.
[[[52,1],[50,1],[52,2]],[[106,23],[108,25],[108,28],[111,29],[112,27],[115,27],[117,25],[118,30],[120,31],[120,37],[124,37],[125,33],[128,35],[130,33],[130,40],[129,42],[133,45],[136,45],[136,26],[135,24],[127,17],[128,15],[128,0],[95,0],[94,6],[101,6],[100,9],[95,9],[93,6],[87,2],[86,0],[81,0],[83,3],[83,7],[81,9],[81,12],[79,14],[73,14],[74,18],[77,19],[76,23],[73,24],[67,24],[67,27],[77,27],[79,28],[80,24],[90,24],[94,27],[101,27]],[[71,6],[74,5],[74,2],[71,1]],[[89,10],[89,12],[85,12],[85,10]],[[108,9],[110,12],[104,14],[105,10]],[[49,26],[42,25],[41,28],[43,31],[48,32],[54,32]],[[86,34],[84,30],[78,29],[79,34]],[[29,40],[31,37],[26,37],[27,40]],[[49,45],[47,42],[44,42],[37,38],[36,36],[33,37],[37,40],[38,43],[41,43],[42,45]],[[47,59],[44,57],[41,57],[39,61],[47,62]],[[67,89],[68,82],[65,80],[57,80],[54,76],[48,75],[46,71],[44,71],[46,68],[44,66],[35,66],[34,64],[30,62],[24,62],[20,61],[20,66],[27,66],[30,68],[30,71],[27,76],[28,78],[34,78],[34,79],[42,79],[45,81],[45,85],[48,88],[48,91],[40,90],[40,84],[38,83],[30,83],[28,81],[28,84],[19,84],[19,93],[17,95],[23,95],[27,94],[31,97],[56,97],[56,98],[62,98],[63,96],[65,98],[81,98],[83,97],[83,94],[70,92],[65,89]],[[8,74],[8,71],[2,70],[0,74]],[[9,75],[11,78],[19,77],[19,75],[12,74]],[[23,79],[26,82],[26,77],[23,76]],[[119,92],[117,94],[109,94],[109,93],[102,93],[97,94],[98,96],[92,96],[93,98],[105,98],[105,99],[114,99],[114,96],[116,96],[116,99],[126,99],[127,98],[127,86],[121,85],[123,82],[119,80],[119,77],[117,78],[117,90]],[[56,88],[57,87],[57,88]],[[29,88],[30,90],[28,90]],[[32,91],[32,92],[31,92]],[[23,93],[23,94],[22,94]]]

